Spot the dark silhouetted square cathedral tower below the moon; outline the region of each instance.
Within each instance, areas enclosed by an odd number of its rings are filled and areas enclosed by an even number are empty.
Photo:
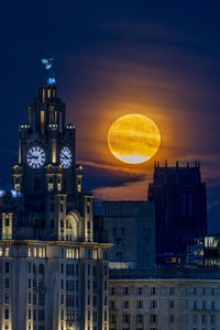
[[[155,204],[156,258],[163,264],[167,255],[184,257],[187,242],[207,232],[206,185],[200,166],[154,167],[148,200]]]

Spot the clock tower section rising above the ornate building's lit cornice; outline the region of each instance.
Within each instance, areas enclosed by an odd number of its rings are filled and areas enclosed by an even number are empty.
[[[38,85],[29,124],[20,125],[19,134],[13,186],[24,198],[30,239],[92,241],[92,196],[81,191],[75,127],[66,123],[66,105],[57,97],[53,75]]]

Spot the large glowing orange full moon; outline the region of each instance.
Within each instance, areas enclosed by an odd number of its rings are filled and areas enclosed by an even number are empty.
[[[142,114],[125,114],[117,119],[108,131],[108,146],[123,163],[140,164],[158,151],[161,134],[157,125]]]

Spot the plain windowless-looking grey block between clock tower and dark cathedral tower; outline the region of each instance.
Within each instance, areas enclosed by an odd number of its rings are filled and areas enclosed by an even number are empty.
[[[150,201],[105,201],[103,229],[108,232],[110,267],[155,266],[154,205]]]

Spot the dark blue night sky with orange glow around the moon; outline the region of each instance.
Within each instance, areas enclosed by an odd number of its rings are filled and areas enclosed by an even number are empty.
[[[18,128],[54,57],[58,96],[77,128],[85,190],[101,199],[146,199],[154,161],[200,161],[209,231],[220,231],[219,1],[4,1],[1,4],[1,187],[18,161]],[[154,120],[162,145],[125,165],[108,151],[120,116]]]

